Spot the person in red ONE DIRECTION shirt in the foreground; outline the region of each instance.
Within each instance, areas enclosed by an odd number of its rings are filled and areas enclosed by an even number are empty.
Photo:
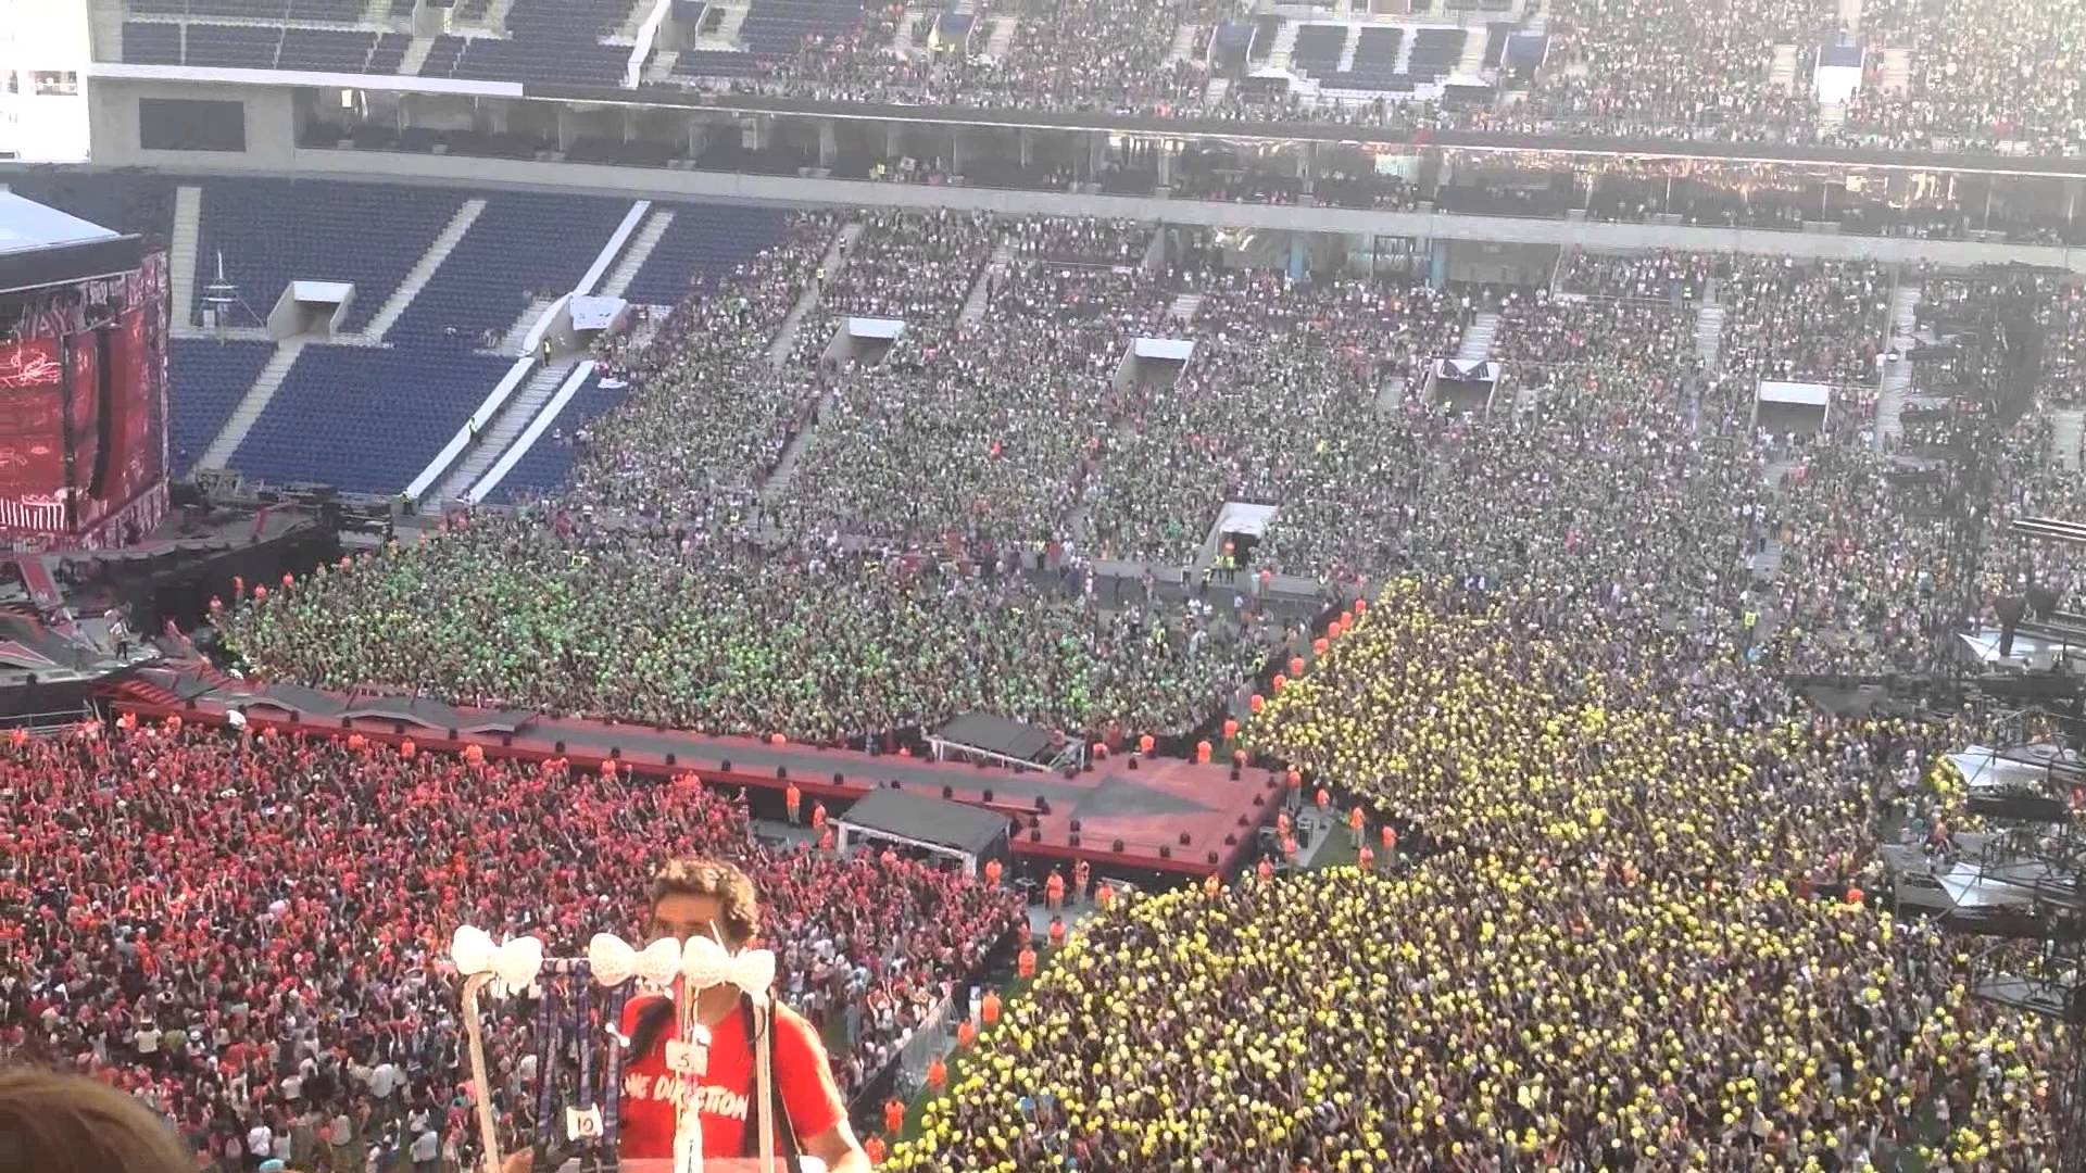
[[[759,906],[753,881],[736,866],[701,856],[668,860],[653,879],[647,939],[686,941],[707,933],[726,950],[749,948],[759,937]],[[832,1081],[826,1046],[801,1014],[774,1002],[774,1092],[780,1119],[757,1102],[753,1031],[761,1029],[753,1002],[732,985],[697,994],[695,1016],[709,1029],[701,1073],[668,1069],[668,1044],[678,1042],[678,1014],[665,998],[638,998],[624,1010],[622,1029],[630,1039],[624,1060],[620,1156],[624,1160],[670,1160],[680,1102],[701,1104],[703,1156],[757,1156],[759,1133],[751,1121],[776,1121],[776,1154],[803,1152],[826,1163],[832,1173],[870,1173],[870,1158],[847,1123],[847,1102]],[[505,1173],[528,1173],[532,1158],[519,1152]],[[795,1169],[791,1163],[789,1169]]]

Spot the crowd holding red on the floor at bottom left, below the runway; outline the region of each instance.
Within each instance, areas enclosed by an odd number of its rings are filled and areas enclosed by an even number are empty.
[[[751,875],[789,943],[780,985],[853,1039],[832,1054],[843,1090],[903,1042],[878,1006],[968,981],[1020,918],[1008,891],[895,856],[759,847],[745,804],[693,779],[361,735],[125,718],[0,745],[0,1058],[138,1094],[219,1169],[455,1167],[471,1090],[451,931],[553,956],[630,937],[670,852]],[[532,1023],[526,1002],[488,1010],[488,1092],[517,1131],[547,1075]]]

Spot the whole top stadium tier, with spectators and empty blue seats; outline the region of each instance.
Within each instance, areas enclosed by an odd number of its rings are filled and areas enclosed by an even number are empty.
[[[134,0],[138,65],[668,86],[843,102],[2078,152],[2082,0],[1414,0],[1348,17],[1224,0],[515,0],[390,8]],[[657,17],[657,21],[655,21]],[[663,48],[676,46],[676,48]]]

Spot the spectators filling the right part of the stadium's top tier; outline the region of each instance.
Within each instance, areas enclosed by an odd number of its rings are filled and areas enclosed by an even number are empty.
[[[1014,21],[1014,29],[995,54],[987,50],[997,19]],[[853,35],[768,63],[759,77],[693,83],[899,104],[1721,142],[1825,138],[1986,150],[2086,142],[2086,94],[2076,79],[2086,21],[2078,0],[1886,0],[1869,4],[1854,29],[1838,13],[1800,0],[1560,0],[1546,6],[1542,65],[1508,77],[1502,98],[1477,104],[1320,100],[1291,86],[1245,86],[1241,67],[1212,69],[1210,50],[1222,25],[1252,23],[1247,8],[1216,0],[1053,0],[1018,15],[980,10],[980,31],[968,44],[928,52],[899,44],[897,21],[872,19]],[[1247,65],[1260,69],[1277,31],[1262,27],[1247,38],[1258,42]],[[1842,109],[1821,102],[1813,79],[1819,50],[1832,46],[1861,52],[1861,86]],[[1214,79],[1229,86],[1212,88]]]

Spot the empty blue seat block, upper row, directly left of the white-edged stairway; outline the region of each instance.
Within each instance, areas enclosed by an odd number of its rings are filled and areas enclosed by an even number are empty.
[[[532,290],[572,292],[628,211],[628,200],[492,196],[386,340],[457,351],[476,346],[486,330],[505,334]]]

